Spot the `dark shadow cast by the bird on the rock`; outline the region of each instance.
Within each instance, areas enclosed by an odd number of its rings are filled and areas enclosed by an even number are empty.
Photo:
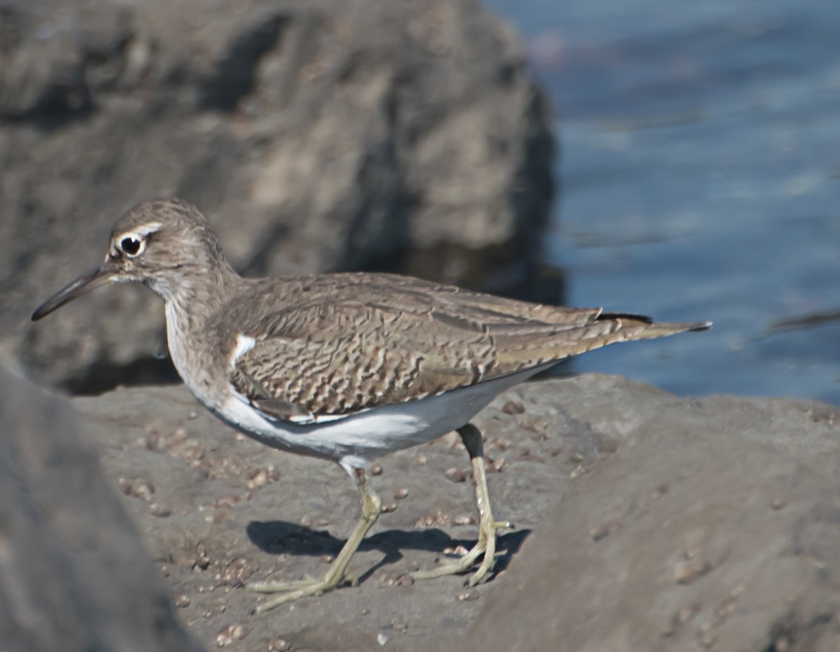
[[[245,531],[251,543],[271,555],[335,556],[344,545],[343,539],[330,535],[325,529],[314,529],[307,525],[281,520],[251,521]],[[507,568],[531,531],[530,529],[516,529],[496,538],[495,572]],[[423,550],[444,556],[443,550],[459,545],[469,550],[475,545],[475,539],[454,538],[438,528],[386,529],[384,532],[377,532],[362,540],[359,550],[379,550],[383,558],[365,571],[359,581],[365,582],[380,568],[402,560],[404,550]]]

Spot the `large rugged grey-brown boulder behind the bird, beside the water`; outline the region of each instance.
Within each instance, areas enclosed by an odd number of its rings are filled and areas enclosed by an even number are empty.
[[[510,289],[535,273],[549,112],[516,34],[475,0],[2,12],[0,346],[39,378],[160,379],[160,306],[139,289],[24,326],[152,196],[202,207],[244,274],[391,269]]]

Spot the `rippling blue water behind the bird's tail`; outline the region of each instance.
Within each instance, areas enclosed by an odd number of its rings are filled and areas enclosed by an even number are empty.
[[[554,104],[570,304],[706,333],[576,369],[840,404],[840,2],[486,0]]]

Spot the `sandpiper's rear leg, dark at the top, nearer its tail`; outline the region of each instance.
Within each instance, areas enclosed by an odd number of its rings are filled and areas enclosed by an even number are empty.
[[[473,484],[475,484],[475,503],[478,506],[479,514],[478,541],[473,546],[473,549],[458,561],[441,564],[437,568],[432,568],[428,571],[416,571],[412,573],[412,577],[418,580],[425,580],[430,577],[463,573],[469,570],[475,564],[475,561],[483,555],[484,559],[481,561],[481,566],[470,577],[470,587],[472,587],[478,584],[493,567],[493,561],[496,556],[496,529],[512,528],[513,526],[510,523],[497,522],[493,519],[493,512],[490,508],[490,494],[487,493],[484,444],[481,441],[480,431],[475,425],[467,424],[458,429],[458,434],[461,436],[461,441],[464,442],[467,452],[470,453]]]

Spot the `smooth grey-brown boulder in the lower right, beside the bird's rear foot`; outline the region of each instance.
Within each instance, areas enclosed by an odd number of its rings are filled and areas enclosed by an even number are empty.
[[[543,515],[465,649],[840,646],[840,411],[564,386],[568,414],[617,451]]]

